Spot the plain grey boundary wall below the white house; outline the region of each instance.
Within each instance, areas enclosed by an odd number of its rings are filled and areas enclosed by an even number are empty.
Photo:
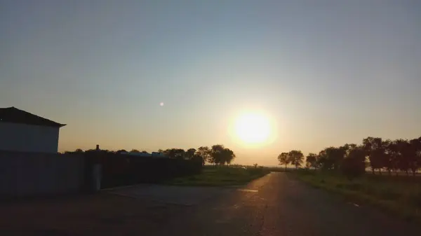
[[[84,163],[83,155],[0,151],[0,198],[78,193]]]

